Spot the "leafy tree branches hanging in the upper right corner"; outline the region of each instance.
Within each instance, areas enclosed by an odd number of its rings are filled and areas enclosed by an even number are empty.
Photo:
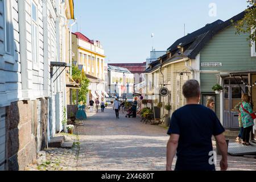
[[[243,19],[238,20],[236,22],[236,29],[237,34],[241,33],[249,33],[250,36],[247,40],[256,41],[256,34],[255,31],[255,24],[256,24],[256,0],[248,0],[247,3],[249,5],[247,6],[247,9],[245,10],[245,16]],[[232,20],[233,22],[233,20]]]

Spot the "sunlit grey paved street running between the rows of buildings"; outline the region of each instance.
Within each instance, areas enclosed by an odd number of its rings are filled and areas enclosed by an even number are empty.
[[[125,118],[125,114],[115,119],[112,109],[87,115],[84,126],[77,127],[81,143],[77,170],[166,169],[167,129],[143,124],[140,118]],[[256,159],[228,158],[229,170],[256,170]],[[220,170],[218,165],[216,169]]]

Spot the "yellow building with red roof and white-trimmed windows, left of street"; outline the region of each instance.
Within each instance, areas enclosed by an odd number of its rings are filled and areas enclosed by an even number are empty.
[[[90,40],[80,32],[72,33],[72,60],[90,80],[87,102],[108,97],[105,92],[105,55],[98,40]],[[88,104],[88,103],[87,103]]]

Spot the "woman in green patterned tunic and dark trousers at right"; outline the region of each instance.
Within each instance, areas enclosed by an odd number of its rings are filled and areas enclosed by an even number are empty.
[[[240,105],[242,124],[243,124],[243,143],[246,146],[250,146],[250,132],[254,126],[253,118],[250,114],[253,114],[253,108],[250,105],[250,96],[248,94],[242,95],[242,104]]]

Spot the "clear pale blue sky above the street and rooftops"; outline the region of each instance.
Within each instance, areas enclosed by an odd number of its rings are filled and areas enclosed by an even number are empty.
[[[217,6],[216,16],[209,16],[210,3]],[[75,0],[75,17],[79,31],[100,40],[106,63],[142,63],[150,56],[151,33],[156,51],[166,51],[184,35],[184,23],[188,34],[246,6],[246,0]]]

